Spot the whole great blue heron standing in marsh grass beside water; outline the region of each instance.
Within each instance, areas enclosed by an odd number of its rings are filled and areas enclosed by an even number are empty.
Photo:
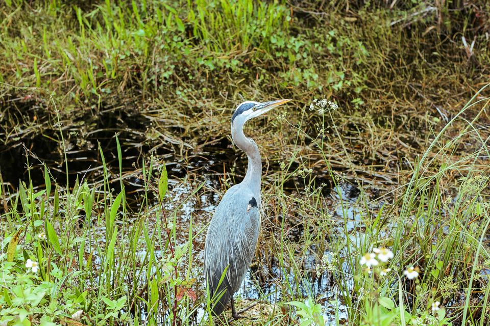
[[[214,296],[213,315],[222,313],[231,299],[233,318],[239,317],[233,294],[249,268],[259,237],[262,160],[257,144],[243,134],[243,125],[290,100],[245,101],[238,105],[231,118],[231,137],[247,154],[249,164],[243,181],[228,189],[219,202],[206,235],[204,276],[210,297]]]

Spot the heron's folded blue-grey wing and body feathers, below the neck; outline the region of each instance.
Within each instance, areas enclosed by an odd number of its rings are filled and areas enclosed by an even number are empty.
[[[216,207],[206,235],[204,273],[213,313],[220,314],[238,290],[252,261],[260,230],[257,200],[230,188]],[[220,283],[221,281],[221,283]]]

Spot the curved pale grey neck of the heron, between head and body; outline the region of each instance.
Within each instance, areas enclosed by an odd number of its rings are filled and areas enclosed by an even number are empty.
[[[247,174],[243,178],[242,184],[247,184],[252,188],[257,200],[260,200],[260,182],[262,179],[262,158],[260,157],[257,144],[243,133],[243,126],[234,128],[232,126],[231,135],[235,145],[247,154],[249,159]]]

